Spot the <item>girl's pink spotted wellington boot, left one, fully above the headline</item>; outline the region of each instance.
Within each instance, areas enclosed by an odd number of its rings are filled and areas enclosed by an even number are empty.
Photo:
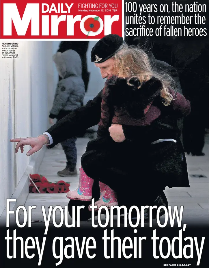
[[[94,180],[89,178],[83,168],[80,169],[80,177],[79,177],[79,186],[75,191],[69,191],[67,193],[67,198],[69,199],[80,199],[82,201],[91,201],[92,200],[92,186]]]

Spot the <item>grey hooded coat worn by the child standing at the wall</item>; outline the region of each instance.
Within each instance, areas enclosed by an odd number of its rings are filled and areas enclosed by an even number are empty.
[[[79,54],[74,50],[57,52],[53,56],[53,60],[63,79],[57,83],[53,107],[50,111],[51,118],[56,117],[61,110],[73,111],[80,107],[85,94]]]

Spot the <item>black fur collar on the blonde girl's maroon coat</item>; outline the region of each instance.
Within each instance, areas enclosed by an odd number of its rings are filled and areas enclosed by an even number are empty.
[[[139,118],[144,115],[145,108],[160,96],[162,83],[152,77],[140,88],[138,80],[131,79],[130,84],[133,85],[128,85],[125,78],[112,76],[105,83],[103,98],[107,104],[120,108],[131,117]]]

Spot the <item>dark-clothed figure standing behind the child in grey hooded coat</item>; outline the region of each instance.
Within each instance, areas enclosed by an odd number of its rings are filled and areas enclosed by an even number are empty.
[[[82,79],[85,85],[85,92],[87,92],[89,83],[89,72],[87,69],[86,52],[88,50],[89,41],[61,41],[57,52],[65,52],[68,49],[75,50],[80,58],[82,64]],[[59,77],[59,80],[61,77]]]

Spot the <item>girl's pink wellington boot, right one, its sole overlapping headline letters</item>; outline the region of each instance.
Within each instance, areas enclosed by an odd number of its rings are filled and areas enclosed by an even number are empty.
[[[115,192],[106,184],[101,183],[99,181],[99,187],[100,187],[100,199],[98,201],[96,201],[94,204],[95,206],[97,206],[98,210],[100,208],[100,206],[106,206],[107,208],[110,208],[110,206],[117,206],[117,197]],[[92,209],[90,209],[89,205],[89,210],[91,211]]]

